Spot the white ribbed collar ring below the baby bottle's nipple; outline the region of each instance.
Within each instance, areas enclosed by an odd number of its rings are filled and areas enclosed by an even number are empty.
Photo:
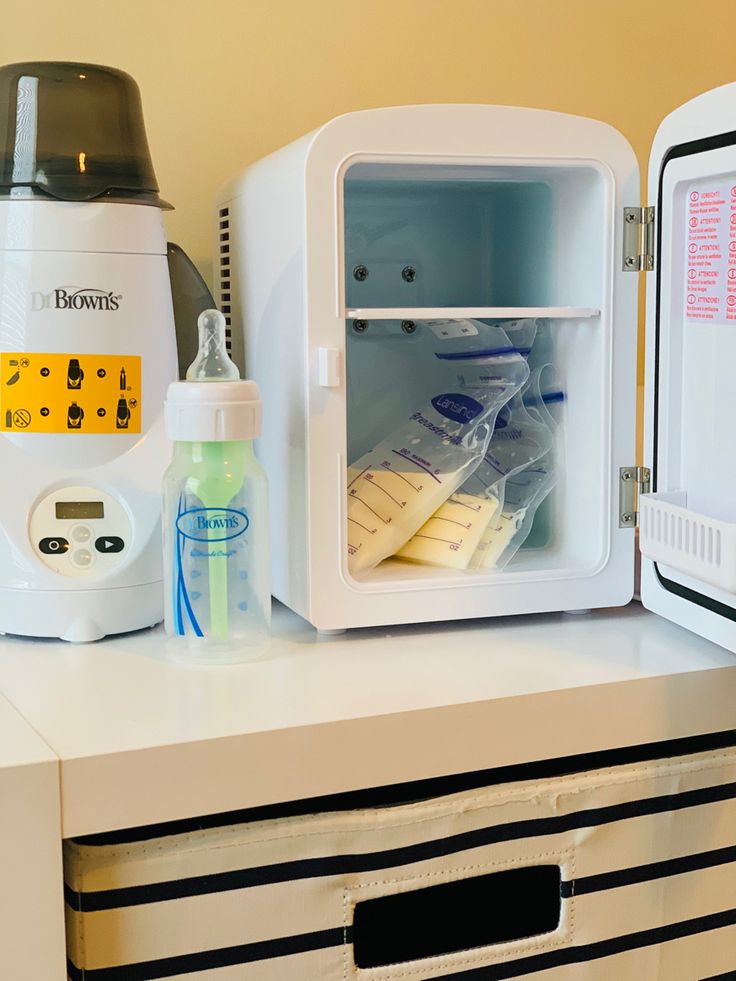
[[[164,407],[166,435],[179,443],[256,439],[263,403],[254,381],[172,382]]]

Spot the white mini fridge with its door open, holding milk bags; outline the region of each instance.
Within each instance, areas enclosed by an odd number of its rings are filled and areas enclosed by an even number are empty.
[[[321,630],[623,605],[639,526],[644,604],[736,650],[736,85],[664,120],[648,188],[605,123],[428,105],[341,116],[223,190],[219,299],[264,398],[279,600]],[[351,572],[348,467],[421,402],[414,345],[527,317],[564,402],[525,547]]]

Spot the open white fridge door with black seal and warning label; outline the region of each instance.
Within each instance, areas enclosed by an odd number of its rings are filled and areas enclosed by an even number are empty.
[[[736,84],[663,121],[649,204],[642,601],[736,651]]]

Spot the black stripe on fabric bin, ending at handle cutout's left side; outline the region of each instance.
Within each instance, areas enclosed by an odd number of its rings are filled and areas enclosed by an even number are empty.
[[[340,947],[343,943],[350,943],[351,939],[349,929],[335,927],[331,930],[301,933],[294,937],[259,940],[255,943],[221,947],[217,950],[199,950],[193,954],[179,954],[175,957],[140,961],[137,964],[120,964],[116,967],[82,970],[73,961],[67,960],[67,969],[71,981],[153,981],[154,978],[193,974],[195,971],[214,971],[221,967],[272,960],[274,957],[290,957],[313,950],[326,950],[330,947]]]

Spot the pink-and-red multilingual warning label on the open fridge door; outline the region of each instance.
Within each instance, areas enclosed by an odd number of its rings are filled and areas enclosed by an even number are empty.
[[[686,209],[685,316],[736,322],[736,181],[692,185]]]

